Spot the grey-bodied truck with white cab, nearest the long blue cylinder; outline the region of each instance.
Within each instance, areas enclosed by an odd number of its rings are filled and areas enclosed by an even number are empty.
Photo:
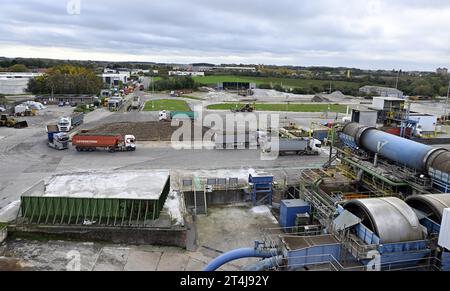
[[[280,156],[288,154],[318,156],[320,154],[321,147],[322,142],[315,138],[280,138],[278,152]],[[275,147],[272,143],[269,142],[264,145],[263,151],[266,153],[270,153],[275,151]]]

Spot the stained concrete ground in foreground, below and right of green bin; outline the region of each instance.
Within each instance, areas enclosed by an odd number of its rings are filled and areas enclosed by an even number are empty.
[[[122,246],[74,241],[7,240],[0,245],[0,267],[22,270],[82,271],[201,271],[223,252],[252,247],[261,229],[277,224],[270,212],[251,207],[214,207],[197,219],[200,247],[196,252],[160,246]],[[4,257],[2,259],[2,257]],[[238,271],[255,262],[240,260],[221,268]]]

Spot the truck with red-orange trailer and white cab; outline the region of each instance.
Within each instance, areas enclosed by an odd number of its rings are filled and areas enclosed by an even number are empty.
[[[106,149],[110,153],[131,152],[136,150],[136,138],[131,134],[80,133],[72,138],[72,145],[78,152],[93,152],[97,149]]]

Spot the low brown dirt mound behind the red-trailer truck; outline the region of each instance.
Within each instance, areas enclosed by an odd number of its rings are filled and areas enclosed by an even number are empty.
[[[171,141],[172,136],[179,127],[172,127],[170,122],[119,122],[104,124],[99,127],[87,130],[89,133],[114,133],[132,134],[138,141]],[[194,132],[202,133],[202,137],[209,130],[207,127],[191,126],[191,137],[194,140]]]

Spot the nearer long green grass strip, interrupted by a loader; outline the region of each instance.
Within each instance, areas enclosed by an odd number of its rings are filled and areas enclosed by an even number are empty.
[[[244,103],[225,103],[208,106],[210,110],[233,110],[241,108]],[[347,106],[338,104],[256,104],[257,111],[283,112],[339,112],[346,113]]]

